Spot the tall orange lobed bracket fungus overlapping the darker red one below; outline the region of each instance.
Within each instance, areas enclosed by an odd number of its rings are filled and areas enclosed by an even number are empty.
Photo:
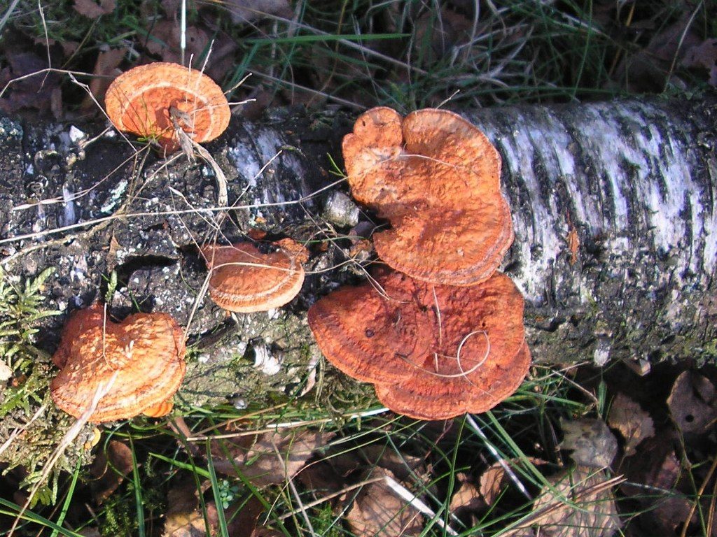
[[[374,233],[392,268],[435,284],[488,279],[513,243],[500,193],[500,155],[477,127],[447,110],[402,119],[378,107],[343,138],[351,193],[391,222]]]

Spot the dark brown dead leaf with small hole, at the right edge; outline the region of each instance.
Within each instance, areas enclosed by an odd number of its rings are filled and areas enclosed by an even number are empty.
[[[717,420],[714,385],[703,375],[685,371],[675,379],[668,397],[675,425],[683,434],[701,434]]]

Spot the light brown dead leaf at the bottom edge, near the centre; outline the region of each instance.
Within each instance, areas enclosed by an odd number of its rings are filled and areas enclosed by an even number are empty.
[[[394,478],[391,470],[376,467],[371,478]],[[384,480],[361,489],[346,514],[346,521],[358,537],[417,535],[422,530],[421,514],[389,488]]]

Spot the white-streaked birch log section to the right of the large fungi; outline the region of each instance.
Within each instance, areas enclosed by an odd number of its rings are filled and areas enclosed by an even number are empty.
[[[503,155],[539,359],[717,357],[717,108],[620,100],[468,115]]]

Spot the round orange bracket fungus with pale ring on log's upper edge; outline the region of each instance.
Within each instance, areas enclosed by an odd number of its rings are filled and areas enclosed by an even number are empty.
[[[168,153],[179,149],[176,127],[208,142],[229,125],[222,88],[196,69],[156,62],[120,74],[105,94],[107,115],[118,130],[153,137]]]

